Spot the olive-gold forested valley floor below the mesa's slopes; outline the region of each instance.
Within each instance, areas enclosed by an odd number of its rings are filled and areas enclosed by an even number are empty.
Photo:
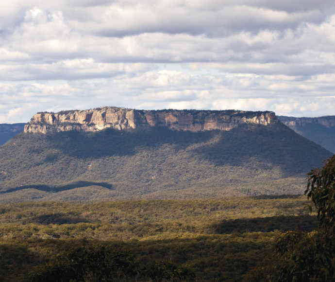
[[[60,266],[54,274],[67,276],[92,248],[98,249],[94,262],[102,262],[94,267],[101,271],[110,258],[101,255],[101,247],[126,250],[128,263],[134,256],[149,273],[160,267],[158,276],[172,264],[191,270],[196,281],[258,281],[252,274],[264,272],[257,266],[270,262],[272,244],[282,232],[318,225],[316,215],[303,206],[308,202],[291,195],[1,205],[0,253],[5,255],[0,256],[0,281],[60,281],[40,275]],[[71,272],[66,272],[67,257]],[[144,276],[126,281],[162,281]]]

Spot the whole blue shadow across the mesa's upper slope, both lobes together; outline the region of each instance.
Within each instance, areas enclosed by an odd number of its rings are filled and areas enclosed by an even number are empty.
[[[264,171],[280,166],[286,176],[305,174],[330,157],[324,148],[300,136],[283,123],[268,126],[240,124],[229,131],[200,132],[171,130],[163,126],[123,131],[108,128],[86,133],[59,132],[48,135],[47,138],[64,154],[80,159],[134,156],[145,150],[158,149],[164,144],[171,146],[171,149],[173,146],[172,154],[179,159],[179,150],[197,145],[188,152],[218,166],[245,165]],[[147,154],[142,155],[145,160]]]

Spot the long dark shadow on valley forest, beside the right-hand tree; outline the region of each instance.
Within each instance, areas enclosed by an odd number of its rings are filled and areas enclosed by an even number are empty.
[[[308,214],[298,216],[271,216],[245,219],[222,220],[209,226],[209,233],[231,234],[246,232],[270,232],[274,230],[304,230],[312,231],[318,226],[317,216]]]

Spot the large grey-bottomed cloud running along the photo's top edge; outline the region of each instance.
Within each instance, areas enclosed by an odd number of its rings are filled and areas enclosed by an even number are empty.
[[[295,29],[301,21],[320,23],[330,14],[333,3],[309,1],[274,5],[271,1],[118,1],[96,5],[89,11],[78,8],[74,21],[78,29],[104,36],[142,33],[225,36],[259,29]]]

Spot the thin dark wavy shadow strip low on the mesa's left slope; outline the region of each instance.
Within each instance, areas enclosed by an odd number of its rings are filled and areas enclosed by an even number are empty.
[[[6,191],[0,191],[0,194],[5,194],[5,193],[12,193],[24,189],[37,189],[40,191],[46,191],[46,192],[60,192],[60,191],[65,191],[65,190],[71,190],[75,188],[80,188],[80,187],[88,187],[88,186],[101,186],[103,188],[107,188],[109,190],[112,190],[112,184],[106,183],[106,182],[90,182],[90,181],[78,181],[74,183],[70,183],[67,185],[62,185],[62,186],[48,186],[48,185],[23,185],[23,186],[18,186],[12,189],[8,189]]]

